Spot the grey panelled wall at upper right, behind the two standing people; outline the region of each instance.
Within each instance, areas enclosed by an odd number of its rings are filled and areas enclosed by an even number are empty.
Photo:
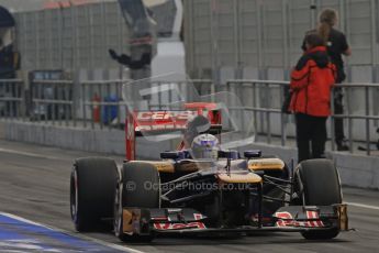
[[[187,72],[191,78],[288,79],[304,33],[324,8],[339,13],[353,55],[348,81],[378,81],[378,10],[375,0],[185,1]]]

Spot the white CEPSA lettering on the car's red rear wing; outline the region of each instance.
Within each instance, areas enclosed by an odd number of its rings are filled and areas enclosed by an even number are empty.
[[[145,111],[136,114],[136,131],[186,129],[197,111]]]

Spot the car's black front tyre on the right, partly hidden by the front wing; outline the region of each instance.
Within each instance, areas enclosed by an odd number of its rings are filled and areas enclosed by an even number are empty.
[[[338,172],[330,160],[302,162],[294,176],[296,190],[305,206],[331,206],[342,202]],[[301,232],[308,240],[327,240],[337,237],[338,228],[328,231]]]

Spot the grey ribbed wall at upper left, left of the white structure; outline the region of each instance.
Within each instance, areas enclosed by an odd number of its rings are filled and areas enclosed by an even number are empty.
[[[130,31],[116,1],[16,12],[23,70],[118,69],[109,48],[130,53]]]

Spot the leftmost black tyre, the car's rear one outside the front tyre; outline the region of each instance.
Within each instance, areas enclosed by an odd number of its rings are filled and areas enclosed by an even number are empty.
[[[99,228],[101,219],[113,218],[118,167],[104,157],[75,161],[70,176],[70,211],[79,232]]]

